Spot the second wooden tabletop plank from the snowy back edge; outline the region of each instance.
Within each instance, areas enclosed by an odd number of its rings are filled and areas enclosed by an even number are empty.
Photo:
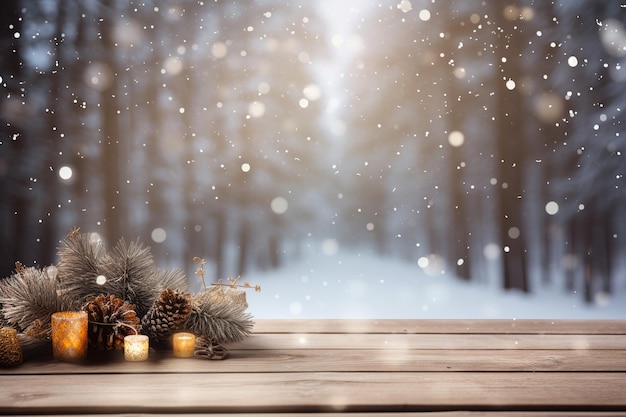
[[[232,349],[626,349],[626,335],[253,334]]]

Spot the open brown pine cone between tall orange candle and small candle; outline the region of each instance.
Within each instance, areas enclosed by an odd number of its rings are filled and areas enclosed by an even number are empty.
[[[139,332],[135,305],[112,294],[90,295],[83,310],[89,315],[89,345],[98,350],[122,350],[124,336]]]

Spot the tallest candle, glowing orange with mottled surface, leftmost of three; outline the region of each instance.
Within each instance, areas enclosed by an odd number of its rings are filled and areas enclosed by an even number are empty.
[[[87,356],[87,313],[60,311],[52,314],[52,354],[65,362]]]

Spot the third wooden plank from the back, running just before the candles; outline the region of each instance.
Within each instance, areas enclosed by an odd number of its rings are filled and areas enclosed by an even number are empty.
[[[626,371],[626,350],[236,350],[209,361],[152,355],[147,362],[32,361],[5,375],[257,372],[590,372]]]

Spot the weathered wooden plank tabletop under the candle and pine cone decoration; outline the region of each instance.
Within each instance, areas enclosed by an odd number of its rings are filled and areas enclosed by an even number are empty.
[[[258,320],[229,348],[0,368],[0,414],[626,416],[626,321]]]

